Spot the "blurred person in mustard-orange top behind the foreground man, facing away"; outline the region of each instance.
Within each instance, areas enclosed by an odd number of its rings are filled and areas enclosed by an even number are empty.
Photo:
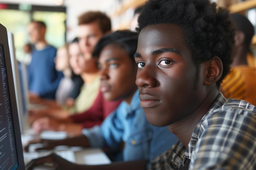
[[[226,98],[242,99],[256,105],[256,68],[249,66],[248,54],[254,35],[254,26],[238,13],[230,15],[236,28],[235,44],[232,52],[231,71],[223,80],[220,92]]]

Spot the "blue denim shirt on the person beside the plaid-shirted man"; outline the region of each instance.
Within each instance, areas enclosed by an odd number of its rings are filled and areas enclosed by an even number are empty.
[[[83,129],[92,147],[116,147],[124,141],[124,161],[152,160],[177,142],[167,127],[155,127],[148,123],[141,108],[137,90],[130,105],[121,102],[101,126]]]

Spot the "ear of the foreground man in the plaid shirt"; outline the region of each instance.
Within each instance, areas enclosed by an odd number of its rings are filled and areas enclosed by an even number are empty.
[[[204,84],[210,85],[218,82],[222,76],[223,65],[219,57],[214,57],[213,59],[207,61],[207,72],[204,77]]]

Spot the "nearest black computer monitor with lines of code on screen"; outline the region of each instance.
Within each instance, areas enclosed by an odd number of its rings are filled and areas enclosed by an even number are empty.
[[[0,24],[0,169],[25,170],[6,28]]]

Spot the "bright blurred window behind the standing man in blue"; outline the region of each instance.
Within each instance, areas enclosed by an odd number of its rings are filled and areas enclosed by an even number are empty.
[[[0,23],[14,35],[18,61],[25,56],[23,46],[29,42],[27,25],[31,20],[45,22],[45,38],[49,44],[58,48],[66,41],[66,7],[0,4]]]

